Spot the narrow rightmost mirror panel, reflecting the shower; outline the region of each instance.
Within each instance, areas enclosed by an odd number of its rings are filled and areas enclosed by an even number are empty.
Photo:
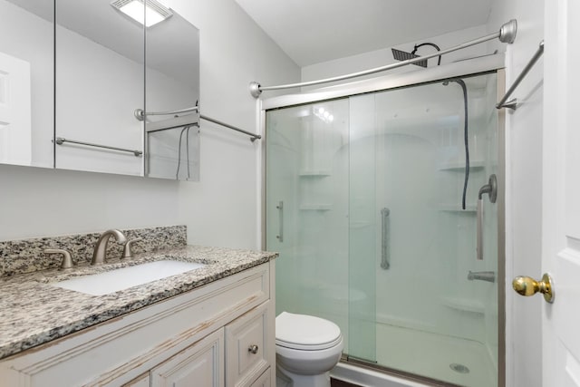
[[[145,175],[198,181],[198,30],[169,12],[145,35]],[[184,112],[154,114],[168,111]]]

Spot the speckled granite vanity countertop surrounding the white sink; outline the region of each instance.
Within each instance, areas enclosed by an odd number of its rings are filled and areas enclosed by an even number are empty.
[[[0,359],[72,334],[143,306],[187,292],[275,258],[276,253],[218,247],[179,247],[143,253],[102,266],[81,265],[0,278]],[[74,276],[160,259],[207,264],[108,295],[86,295],[51,285]]]

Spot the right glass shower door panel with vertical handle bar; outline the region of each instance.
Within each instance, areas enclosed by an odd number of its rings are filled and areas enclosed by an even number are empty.
[[[498,173],[496,84],[487,74],[350,98],[349,355],[497,385],[498,206],[487,195],[476,254],[478,191]],[[372,294],[360,311],[357,291]],[[368,335],[376,342],[359,345]]]

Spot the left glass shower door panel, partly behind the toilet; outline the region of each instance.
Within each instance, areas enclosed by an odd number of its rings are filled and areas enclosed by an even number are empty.
[[[348,125],[347,98],[266,113],[266,248],[280,253],[276,314],[323,317],[345,335]]]

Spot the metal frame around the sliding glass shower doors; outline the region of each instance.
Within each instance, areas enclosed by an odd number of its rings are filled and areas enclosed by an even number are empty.
[[[503,53],[497,53],[484,57],[469,59],[457,63],[449,63],[430,67],[424,70],[416,70],[408,73],[395,73],[381,77],[375,77],[358,82],[348,82],[336,86],[325,87],[308,91],[301,94],[286,94],[258,100],[256,109],[258,112],[259,130],[262,135],[262,144],[258,153],[258,164],[261,164],[261,190],[258,217],[261,218],[260,243],[262,249],[266,249],[266,111],[289,108],[314,102],[324,102],[338,98],[351,97],[370,92],[385,92],[388,90],[417,86],[421,83],[437,82],[454,77],[466,77],[481,73],[497,73],[497,100],[505,93],[505,58]],[[495,107],[494,107],[495,108]],[[506,386],[506,134],[505,134],[505,109],[498,110],[498,387]],[[415,382],[437,382],[430,378],[408,372],[393,370],[380,365],[359,363],[350,361],[345,356],[341,362],[351,363],[363,368],[385,372],[403,379]],[[435,384],[437,385],[437,384]]]

